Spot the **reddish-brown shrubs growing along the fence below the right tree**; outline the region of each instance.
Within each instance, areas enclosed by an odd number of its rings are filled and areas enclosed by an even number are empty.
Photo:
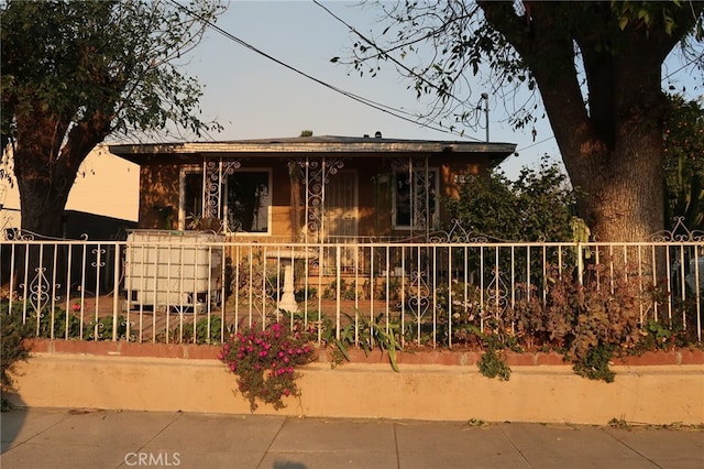
[[[580,282],[574,271],[556,268],[540,283],[517,284],[510,305],[482,296],[475,285],[454,282],[451,294],[448,285],[439,285],[433,340],[485,351],[479,364],[486,375],[509,371],[502,364],[505,350],[556,351],[579,374],[607,382],[614,378],[608,369],[613,356],[697,346],[696,328],[683,327],[683,318],[696,324],[695,301],[672,299],[666,284],[651,285],[635,272],[628,266],[607,272],[593,264]],[[671,319],[662,313],[668,307]]]

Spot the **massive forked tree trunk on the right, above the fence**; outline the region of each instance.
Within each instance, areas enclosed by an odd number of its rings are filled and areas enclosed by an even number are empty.
[[[526,2],[527,3],[527,2]],[[598,241],[644,241],[664,228],[661,64],[675,35],[632,28],[608,44],[615,20],[608,2],[484,2],[486,20],[532,72],[573,186],[579,215]],[[629,28],[631,28],[629,25]],[[585,97],[575,44],[586,75]],[[605,46],[608,44],[609,46]],[[586,100],[586,103],[585,103]]]

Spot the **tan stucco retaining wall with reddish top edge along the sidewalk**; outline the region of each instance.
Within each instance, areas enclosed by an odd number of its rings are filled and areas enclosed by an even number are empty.
[[[42,407],[245,414],[218,348],[43,341],[18,366],[12,400]],[[215,353],[213,353],[215,352]],[[616,364],[614,383],[575,375],[558,356],[509,358],[509,381],[490,380],[473,352],[404,355],[394,372],[381,353],[332,368],[328,356],[302,369],[301,397],[258,414],[436,421],[571,422],[612,418],[651,424],[704,423],[704,353],[651,353]],[[549,364],[536,364],[546,362]],[[663,364],[662,362],[666,362]],[[444,363],[444,364],[442,364]]]

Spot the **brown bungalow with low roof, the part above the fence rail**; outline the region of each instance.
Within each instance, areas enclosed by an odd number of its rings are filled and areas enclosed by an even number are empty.
[[[443,198],[515,146],[377,132],[121,144],[110,152],[140,165],[142,229],[327,243],[427,236],[448,221]]]

